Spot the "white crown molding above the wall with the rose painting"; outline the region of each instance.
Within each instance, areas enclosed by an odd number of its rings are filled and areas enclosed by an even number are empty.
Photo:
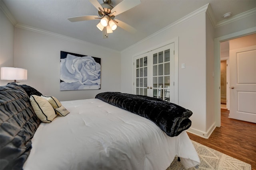
[[[26,30],[29,30],[29,31],[34,31],[34,32],[37,32],[37,33],[42,33],[42,34],[45,34],[45,35],[50,35],[50,36],[53,36],[53,37],[58,37],[58,38],[62,38],[62,39],[67,39],[67,40],[70,40],[70,41],[75,41],[75,42],[77,42],[77,43],[82,43],[82,44],[85,44],[85,45],[93,45],[93,46],[96,46],[96,47],[100,47],[100,48],[106,49],[106,50],[108,50],[108,51],[113,51],[113,52],[118,52],[118,53],[120,53],[120,51],[116,51],[116,50],[113,50],[113,49],[110,49],[110,48],[107,48],[107,47],[103,47],[103,46],[100,46],[100,45],[96,45],[96,44],[94,44],[94,43],[89,43],[89,42],[87,42],[87,41],[82,41],[82,40],[80,40],[80,39],[68,37],[68,36],[61,35],[61,34],[58,34],[58,33],[53,33],[53,32],[50,32],[50,31],[45,31],[45,30],[43,30],[43,29],[31,27],[31,26],[28,26],[28,25],[20,24],[20,23],[16,24],[15,27],[21,28],[21,29],[26,29]]]

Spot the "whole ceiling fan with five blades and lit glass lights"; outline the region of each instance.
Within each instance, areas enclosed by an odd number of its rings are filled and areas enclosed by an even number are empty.
[[[140,4],[140,0],[123,0],[115,7],[111,6],[111,0],[103,0],[103,4],[100,4],[97,0],[90,0],[92,5],[98,10],[99,16],[77,16],[68,18],[71,22],[86,21],[86,20],[100,20],[97,27],[103,32],[103,38],[108,38],[108,33],[112,33],[117,26],[122,29],[134,33],[136,29],[123,21],[117,20],[115,16],[130,10],[131,8]]]

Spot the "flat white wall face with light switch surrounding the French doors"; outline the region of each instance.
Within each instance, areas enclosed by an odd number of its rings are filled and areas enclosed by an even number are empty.
[[[191,128],[200,134],[206,132],[205,18],[205,13],[194,16],[121,52],[121,91],[132,93],[133,57],[178,37],[178,104],[193,112]]]

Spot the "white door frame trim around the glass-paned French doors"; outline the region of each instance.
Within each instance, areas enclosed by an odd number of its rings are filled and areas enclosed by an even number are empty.
[[[141,51],[140,53],[137,53],[132,56],[132,92],[134,92],[134,57],[137,57],[138,55],[143,55],[145,53],[148,53],[150,51],[153,51],[155,49],[158,49],[160,47],[164,47],[168,44],[174,43],[174,104],[179,104],[179,99],[178,99],[178,70],[179,70],[179,37],[175,37],[173,39],[170,39],[169,41],[160,43],[160,44],[155,44],[151,47],[148,47],[148,49]]]

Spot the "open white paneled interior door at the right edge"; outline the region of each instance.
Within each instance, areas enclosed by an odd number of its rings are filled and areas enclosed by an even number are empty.
[[[256,45],[230,50],[229,117],[256,123]]]

